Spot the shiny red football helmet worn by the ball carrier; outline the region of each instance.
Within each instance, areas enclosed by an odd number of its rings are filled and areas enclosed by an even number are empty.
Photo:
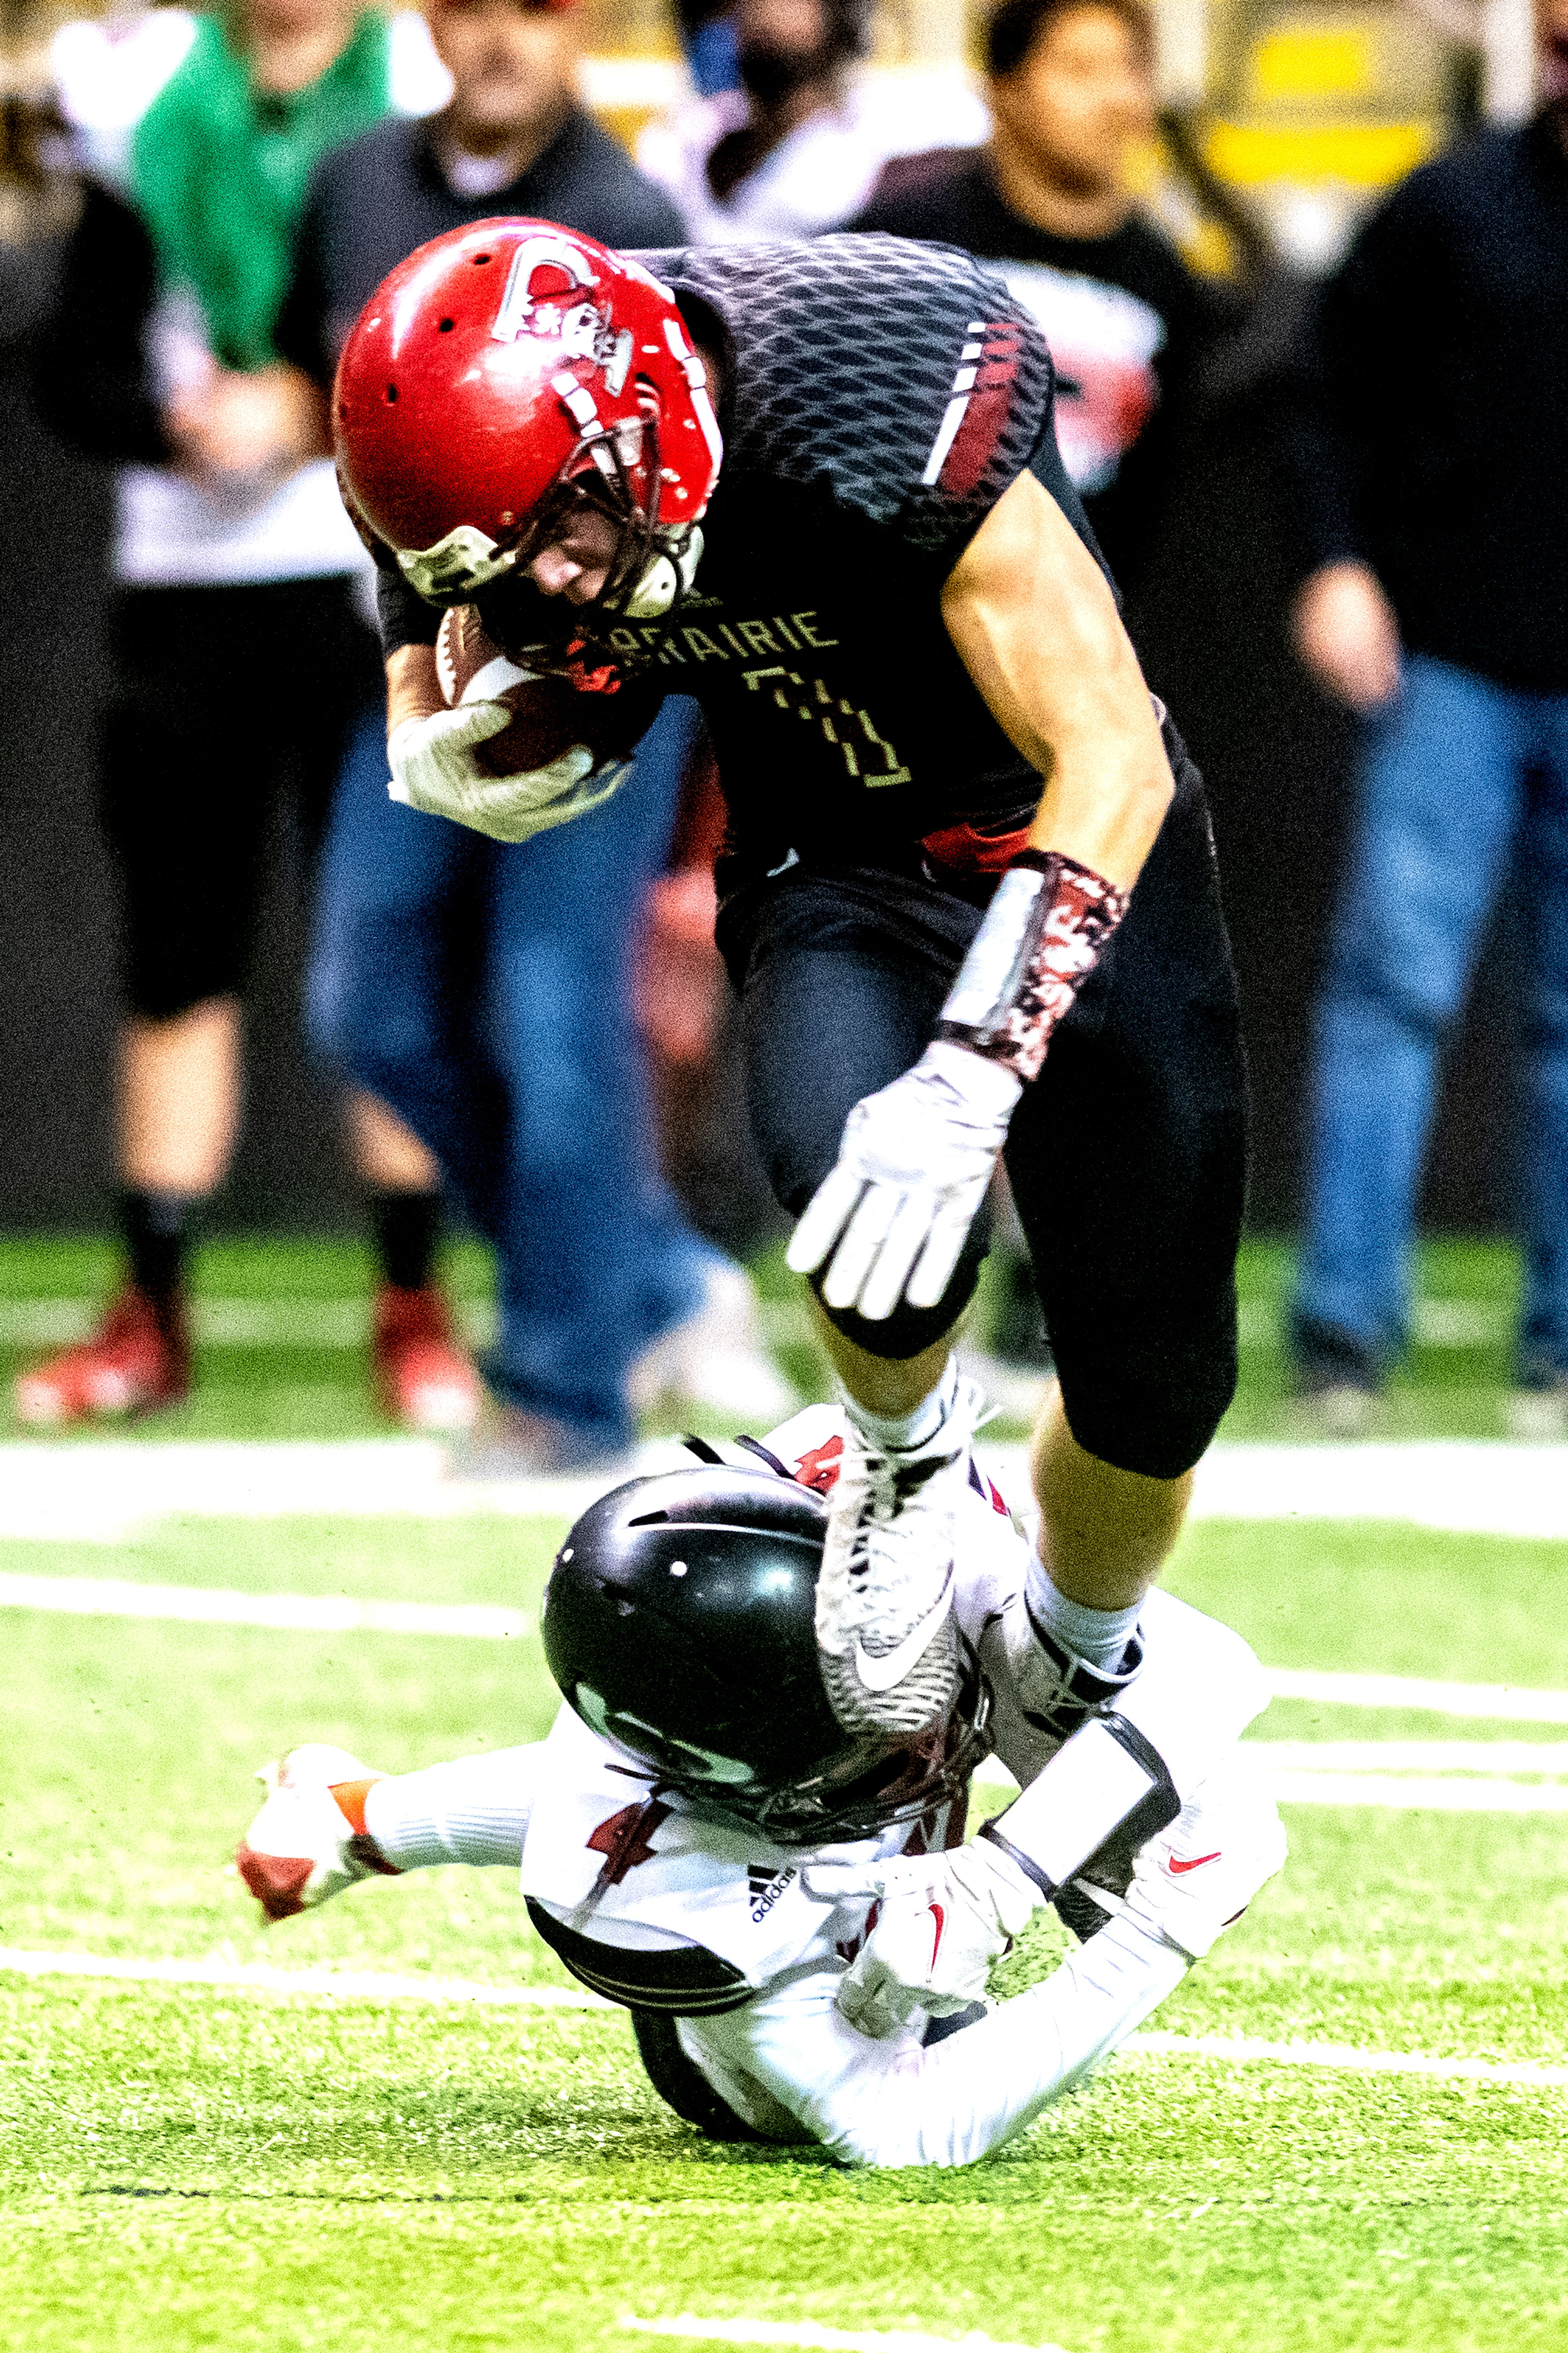
[[[598,609],[690,586],[723,456],[706,372],[671,289],[593,238],[480,221],[421,245],[360,311],[332,419],[348,513],[433,605],[527,569],[577,499],[619,525]]]

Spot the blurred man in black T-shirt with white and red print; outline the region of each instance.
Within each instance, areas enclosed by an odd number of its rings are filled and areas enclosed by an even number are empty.
[[[1003,0],[986,26],[991,139],[890,162],[850,228],[1003,264],[1057,362],[1057,440],[1123,593],[1135,591],[1191,431],[1215,294],[1130,193],[1154,136],[1144,0]]]

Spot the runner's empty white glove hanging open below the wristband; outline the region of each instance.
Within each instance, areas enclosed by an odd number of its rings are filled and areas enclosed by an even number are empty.
[[[838,1160],[817,1186],[789,1245],[810,1275],[831,1252],[822,1297],[869,1322],[899,1299],[935,1308],[975,1224],[1022,1080],[984,1054],[939,1038],[913,1071],[859,1099],[843,1122]]]

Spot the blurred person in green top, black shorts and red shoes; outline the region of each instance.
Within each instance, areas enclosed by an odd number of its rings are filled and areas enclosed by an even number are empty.
[[[54,428],[120,466],[99,788],[125,901],[127,1282],[85,1346],[19,1381],[35,1424],[188,1391],[186,1254],[240,1118],[264,847],[283,812],[308,861],[348,729],[379,699],[356,609],[365,558],[318,393],[278,360],[273,315],[311,165],[386,113],[386,21],[341,0],[247,0],[158,47],[174,71],[129,139],[137,207],[85,186],[38,365]],[[407,1186],[412,1139],[384,1120],[381,1141],[381,1388],[410,1419],[464,1419],[473,1372],[426,1289],[436,1202]]]

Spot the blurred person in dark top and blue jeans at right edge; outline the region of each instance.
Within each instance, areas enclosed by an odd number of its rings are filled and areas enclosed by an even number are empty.
[[[1516,1379],[1568,1398],[1568,0],[1544,106],[1415,172],[1323,292],[1293,461],[1302,659],[1363,715],[1316,1035],[1304,1393],[1408,1334],[1436,1049],[1507,894],[1523,955]]]

